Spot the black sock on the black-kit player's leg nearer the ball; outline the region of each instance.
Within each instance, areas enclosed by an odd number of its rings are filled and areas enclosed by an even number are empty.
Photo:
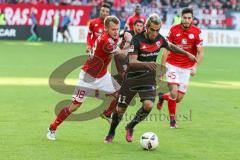
[[[143,121],[148,116],[148,114],[150,112],[151,112],[151,110],[147,111],[143,107],[140,108],[137,111],[137,113],[136,113],[135,117],[133,118],[133,120],[130,123],[128,123],[127,127],[128,128],[134,128],[139,122]]]

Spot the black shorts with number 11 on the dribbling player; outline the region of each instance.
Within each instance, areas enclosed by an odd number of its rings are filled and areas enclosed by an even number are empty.
[[[156,96],[155,75],[155,71],[148,70],[126,72],[119,91],[118,106],[126,108],[137,93],[141,102],[144,100],[154,102]]]

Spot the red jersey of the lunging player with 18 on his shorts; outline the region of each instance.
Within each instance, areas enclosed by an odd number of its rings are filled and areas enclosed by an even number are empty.
[[[100,78],[107,73],[107,68],[112,59],[112,53],[117,48],[118,39],[111,38],[104,32],[95,41],[93,54],[85,62],[82,69],[95,78]]]

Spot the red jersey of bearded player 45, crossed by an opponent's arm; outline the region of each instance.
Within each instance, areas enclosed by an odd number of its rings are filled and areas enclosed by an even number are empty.
[[[167,40],[194,56],[197,55],[197,47],[203,43],[201,30],[194,25],[191,25],[187,30],[183,29],[181,24],[173,26],[170,29]],[[174,54],[170,51],[167,63],[180,68],[191,68],[196,62],[190,60],[186,55]]]

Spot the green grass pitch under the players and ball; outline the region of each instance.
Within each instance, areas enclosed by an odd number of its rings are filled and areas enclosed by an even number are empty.
[[[1,160],[237,160],[240,138],[239,48],[205,48],[205,59],[192,77],[188,93],[178,105],[179,129],[154,107],[157,120],[135,129],[133,143],[125,141],[124,126],[141,106],[129,107],[113,144],[104,144],[108,124],[101,118],[64,122],[57,140],[46,139],[54,107],[71,95],[53,91],[47,83],[52,71],[70,58],[83,54],[85,45],[0,41],[0,159]],[[70,79],[77,79],[79,69]],[[100,103],[87,99],[79,112]],[[160,146],[143,151],[139,137],[155,132]]]

